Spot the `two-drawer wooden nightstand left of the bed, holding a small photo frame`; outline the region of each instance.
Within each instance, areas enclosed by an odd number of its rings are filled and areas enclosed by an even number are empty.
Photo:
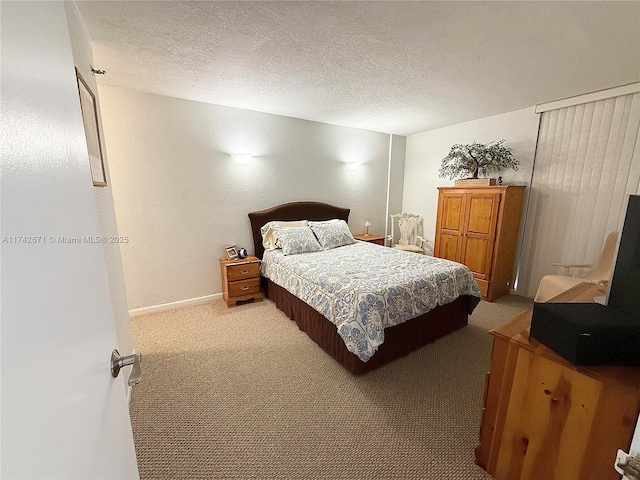
[[[247,257],[238,260],[220,259],[222,298],[227,307],[262,301],[260,292],[260,259]]]

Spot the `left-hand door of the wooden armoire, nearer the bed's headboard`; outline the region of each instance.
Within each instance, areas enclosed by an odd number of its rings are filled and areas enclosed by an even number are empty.
[[[459,192],[443,192],[439,199],[434,255],[454,262],[462,262],[462,241],[464,239],[466,195]]]

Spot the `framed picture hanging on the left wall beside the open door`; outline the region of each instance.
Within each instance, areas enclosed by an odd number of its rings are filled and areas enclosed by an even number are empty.
[[[98,127],[98,108],[96,107],[96,97],[80,75],[76,68],[76,78],[78,80],[78,94],[80,95],[80,108],[82,110],[82,121],[84,123],[84,134],[87,139],[87,150],[89,151],[89,165],[91,167],[91,179],[96,187],[107,186],[107,175],[104,171],[104,160],[102,158],[102,144],[100,142],[100,128]]]

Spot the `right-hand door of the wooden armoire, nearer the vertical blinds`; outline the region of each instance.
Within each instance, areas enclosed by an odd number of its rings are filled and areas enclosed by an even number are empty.
[[[477,280],[489,281],[493,261],[500,193],[467,193],[467,222],[461,263]]]

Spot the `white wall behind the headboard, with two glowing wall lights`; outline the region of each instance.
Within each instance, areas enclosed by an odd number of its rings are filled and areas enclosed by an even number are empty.
[[[382,232],[389,135],[100,86],[130,309],[221,292],[218,259],[253,252],[247,213],[314,200]],[[229,153],[251,153],[237,165]],[[355,171],[344,162],[362,162]],[[379,230],[380,228],[380,230]]]

